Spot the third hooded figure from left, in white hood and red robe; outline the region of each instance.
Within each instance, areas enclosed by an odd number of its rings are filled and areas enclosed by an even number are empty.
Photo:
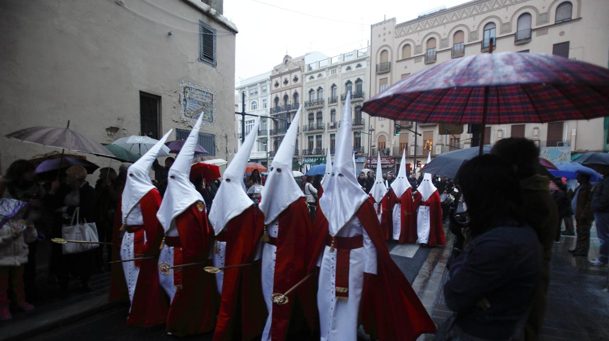
[[[216,234],[211,257],[216,268],[252,262],[259,246],[262,216],[245,193],[245,185],[241,181],[258,134],[258,125],[259,119],[224,171],[224,181],[209,211],[209,223]],[[220,294],[220,312],[214,340],[238,339],[239,329],[242,340],[259,336],[266,317],[259,264],[227,268],[216,273],[215,277]]]

